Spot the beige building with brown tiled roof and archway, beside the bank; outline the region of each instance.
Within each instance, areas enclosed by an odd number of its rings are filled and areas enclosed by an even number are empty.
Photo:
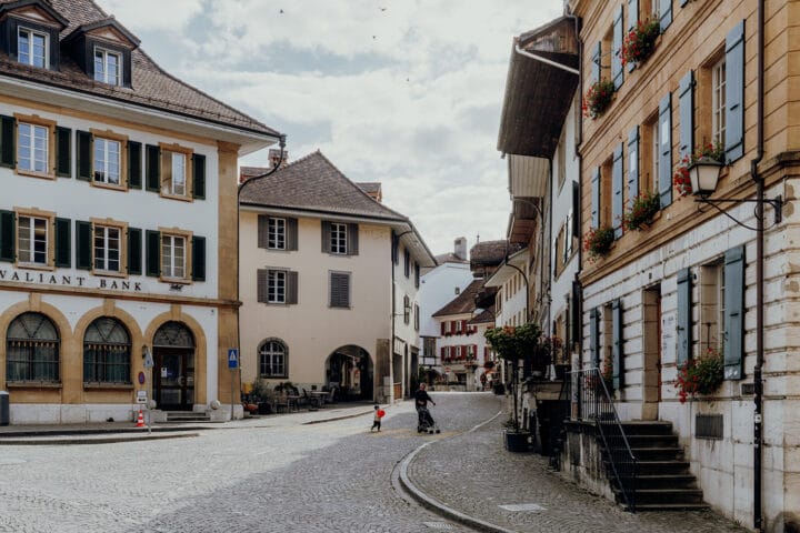
[[[291,381],[378,401],[419,363],[420,269],[411,221],[313,152],[241,190],[242,381]]]

